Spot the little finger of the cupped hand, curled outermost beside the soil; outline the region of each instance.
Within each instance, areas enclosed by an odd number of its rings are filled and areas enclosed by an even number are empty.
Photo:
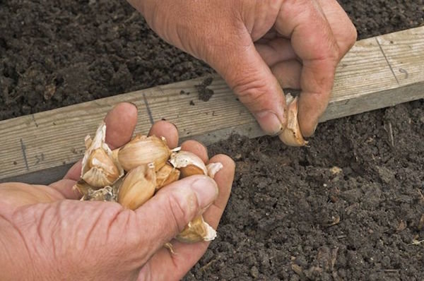
[[[230,197],[232,181],[234,179],[235,163],[226,155],[216,155],[210,162],[220,162],[223,164],[221,169],[215,175],[216,184],[219,188],[219,196],[211,207],[204,213],[204,219],[211,227],[216,229],[220,217],[223,215],[225,206]],[[218,231],[219,235],[219,231]],[[169,250],[160,249],[148,262],[148,265],[141,271],[140,277],[144,280],[147,269],[155,280],[179,280],[194,264],[204,255],[210,242],[199,242],[195,244],[184,244],[173,241],[172,246],[175,254]]]

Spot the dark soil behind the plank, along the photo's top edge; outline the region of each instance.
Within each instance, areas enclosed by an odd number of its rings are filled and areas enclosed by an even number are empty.
[[[341,4],[360,39],[424,23],[423,0]],[[213,72],[126,1],[0,0],[0,18],[0,120]]]

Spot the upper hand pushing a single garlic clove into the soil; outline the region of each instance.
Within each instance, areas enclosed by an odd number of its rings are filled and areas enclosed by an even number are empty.
[[[336,0],[129,0],[164,40],[218,71],[278,134],[286,124],[283,88],[300,88],[299,123],[311,136],[329,102],[336,65],[356,30]]]

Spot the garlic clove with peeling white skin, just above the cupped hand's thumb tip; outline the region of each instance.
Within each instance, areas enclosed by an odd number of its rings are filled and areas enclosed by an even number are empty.
[[[189,151],[180,150],[177,153],[172,153],[170,163],[181,172],[181,177],[189,177],[194,174],[208,175],[205,163],[199,156]]]

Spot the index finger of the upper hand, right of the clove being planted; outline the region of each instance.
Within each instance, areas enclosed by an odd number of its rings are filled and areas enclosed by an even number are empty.
[[[339,53],[329,23],[316,1],[285,1],[276,30],[291,35],[302,59],[298,119],[303,136],[311,136],[329,102]]]

